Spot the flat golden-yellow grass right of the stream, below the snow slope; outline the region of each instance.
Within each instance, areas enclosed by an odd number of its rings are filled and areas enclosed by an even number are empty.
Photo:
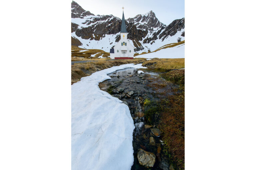
[[[148,67],[148,70],[152,70],[156,72],[168,72],[173,69],[185,68],[185,59],[184,58],[175,58],[175,59],[154,58],[144,62],[142,66]]]

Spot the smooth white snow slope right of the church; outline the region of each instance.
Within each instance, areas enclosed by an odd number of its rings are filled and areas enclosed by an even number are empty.
[[[134,58],[185,58],[185,44],[165,48],[153,53],[137,55]]]

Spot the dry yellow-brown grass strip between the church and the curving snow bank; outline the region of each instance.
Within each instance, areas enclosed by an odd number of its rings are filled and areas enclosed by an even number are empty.
[[[82,77],[86,77],[91,75],[92,73],[103,70],[112,66],[119,66],[122,64],[129,64],[129,63],[143,63],[146,61],[145,58],[136,58],[131,60],[102,60],[96,59],[96,62],[87,62],[87,63],[74,63],[71,65],[71,84],[80,81]]]

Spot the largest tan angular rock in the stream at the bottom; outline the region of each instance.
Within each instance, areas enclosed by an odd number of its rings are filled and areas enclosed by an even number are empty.
[[[153,153],[143,149],[138,150],[137,158],[139,163],[145,167],[153,167],[156,161],[156,156]]]

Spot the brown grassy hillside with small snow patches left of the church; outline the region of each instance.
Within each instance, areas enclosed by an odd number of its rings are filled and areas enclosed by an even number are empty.
[[[81,52],[81,50],[86,51]],[[95,56],[92,57],[92,55]],[[71,61],[79,61],[84,59],[98,59],[98,57],[100,56],[102,56],[103,58],[109,58],[110,53],[107,53],[99,49],[83,49],[77,46],[71,46]]]

